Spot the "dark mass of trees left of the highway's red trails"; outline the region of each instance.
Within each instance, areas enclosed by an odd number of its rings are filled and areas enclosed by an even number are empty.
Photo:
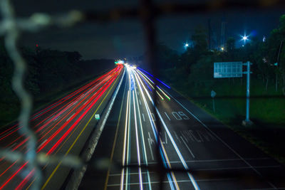
[[[60,95],[70,90],[73,84],[100,75],[113,67],[113,60],[82,60],[78,52],[56,51],[37,47],[36,50],[21,48],[28,64],[25,85],[33,95],[35,105],[47,95]],[[19,111],[19,100],[11,88],[14,66],[0,41],[0,126],[16,119]],[[50,101],[50,100],[49,100]]]

